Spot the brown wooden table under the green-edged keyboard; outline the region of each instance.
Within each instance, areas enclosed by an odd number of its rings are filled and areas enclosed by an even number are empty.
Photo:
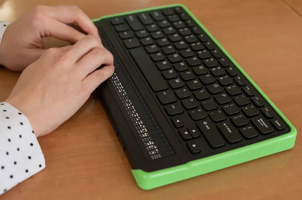
[[[75,4],[91,18],[178,3],[173,0],[0,1],[0,20],[36,4]],[[186,6],[302,130],[302,4],[300,0],[187,0]],[[0,101],[19,73],[0,68]],[[53,133],[39,138],[46,168],[0,196],[7,199],[301,199],[302,137],[291,150],[144,191],[100,102],[89,101]]]

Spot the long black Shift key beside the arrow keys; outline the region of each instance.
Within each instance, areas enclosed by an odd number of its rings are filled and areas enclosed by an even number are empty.
[[[215,124],[209,119],[198,121],[197,126],[212,148],[225,145],[224,139],[215,127]]]

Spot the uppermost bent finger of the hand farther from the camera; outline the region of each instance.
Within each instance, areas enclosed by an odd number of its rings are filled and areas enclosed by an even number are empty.
[[[64,23],[64,24],[78,24],[78,26],[89,35],[93,35],[101,41],[99,32],[90,18],[77,6],[38,6],[38,11],[41,11],[49,17]]]

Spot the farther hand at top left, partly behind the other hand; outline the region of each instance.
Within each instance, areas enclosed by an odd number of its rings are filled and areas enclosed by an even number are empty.
[[[76,43],[86,35],[68,25],[77,25],[100,42],[97,28],[76,6],[37,6],[28,15],[9,25],[0,45],[0,64],[12,71],[23,71],[46,51],[42,38]]]

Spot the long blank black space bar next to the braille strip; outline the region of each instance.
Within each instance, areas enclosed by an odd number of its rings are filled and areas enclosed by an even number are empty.
[[[168,89],[167,83],[143,48],[132,49],[130,54],[155,92]]]

